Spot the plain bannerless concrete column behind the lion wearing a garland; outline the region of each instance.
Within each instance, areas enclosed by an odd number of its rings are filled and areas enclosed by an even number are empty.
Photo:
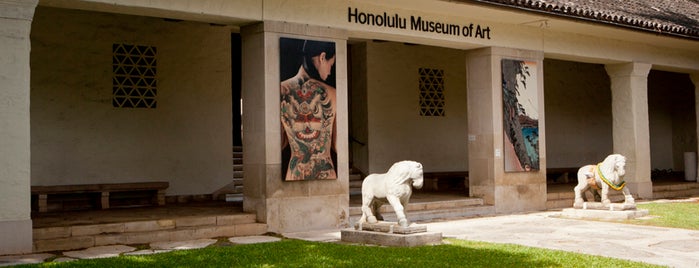
[[[606,65],[611,80],[614,153],[626,156],[626,185],[640,198],[653,197],[650,180],[648,72],[651,64]]]

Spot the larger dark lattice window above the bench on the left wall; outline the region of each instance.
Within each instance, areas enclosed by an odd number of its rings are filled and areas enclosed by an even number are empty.
[[[112,105],[118,108],[155,108],[156,49],[151,46],[112,45]]]

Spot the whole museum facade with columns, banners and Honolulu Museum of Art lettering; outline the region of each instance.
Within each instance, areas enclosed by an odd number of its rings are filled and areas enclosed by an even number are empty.
[[[697,4],[546,2],[0,1],[0,254],[32,250],[31,186],[207,196],[234,145],[275,233],[348,226],[350,170],[401,160],[514,213],[620,153],[652,198],[699,150]]]

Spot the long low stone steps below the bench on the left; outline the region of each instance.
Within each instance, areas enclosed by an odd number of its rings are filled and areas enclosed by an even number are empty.
[[[34,252],[115,244],[147,244],[202,238],[261,235],[267,225],[254,214],[194,216],[148,221],[34,228]]]

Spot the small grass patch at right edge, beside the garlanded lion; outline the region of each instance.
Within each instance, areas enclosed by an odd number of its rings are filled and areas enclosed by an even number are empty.
[[[644,203],[636,205],[647,209],[648,219],[629,220],[628,223],[699,230],[699,202]]]

